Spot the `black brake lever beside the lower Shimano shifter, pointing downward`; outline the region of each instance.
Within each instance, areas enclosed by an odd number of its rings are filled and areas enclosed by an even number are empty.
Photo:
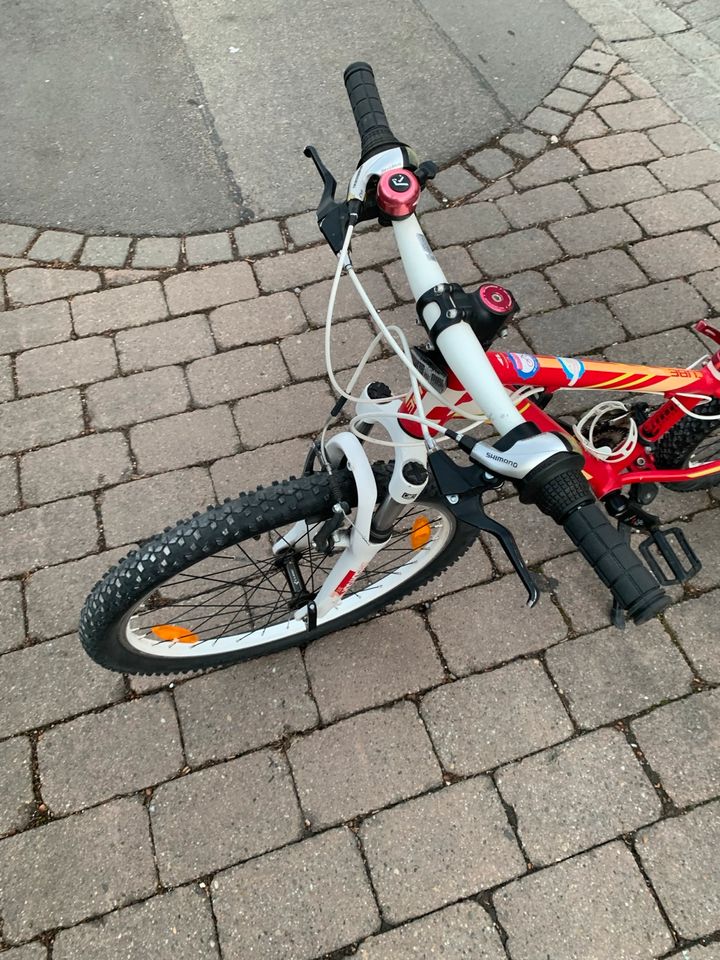
[[[428,464],[435,477],[438,489],[442,493],[453,515],[475,527],[476,530],[495,537],[527,590],[527,605],[534,607],[540,594],[532,573],[527,568],[515,537],[503,524],[493,520],[483,509],[482,494],[486,490],[496,489],[502,482],[479,467],[459,467],[444,450],[435,450],[428,457]]]

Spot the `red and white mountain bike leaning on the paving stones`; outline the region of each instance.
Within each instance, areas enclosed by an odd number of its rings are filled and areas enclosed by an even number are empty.
[[[301,477],[179,522],[95,585],[80,638],[105,667],[187,671],[306,643],[432,579],[480,531],[499,540],[532,605],[538,590],[512,534],[483,510],[483,494],[508,481],[523,503],[565,528],[609,588],[618,626],[625,615],[635,623],[656,616],[670,602],[662,586],[699,569],[682,532],[662,530],[645,507],[658,484],[683,491],[720,483],[720,349],[688,369],[491,350],[517,312],[512,294],[493,283],[467,292],[447,281],[415,216],[435,165],[419,163],[393,135],[367,64],[351,64],[344,80],[361,139],[344,200],[335,200],[336,181],[317,150],[305,150],[323,180],[317,219],[338,261],[325,336],[338,400]],[[394,231],[429,338],[424,348],[411,348],[402,330],[385,325],[353,270],[353,231],[365,220]],[[343,273],[378,331],[346,389],[331,358]],[[720,345],[709,323],[696,329]],[[410,390],[392,395],[374,382],[356,396],[381,340],[404,364]],[[549,400],[575,389],[661,402],[601,403],[575,425],[554,419]],[[348,403],[355,405],[349,425],[329,435]],[[468,423],[449,426],[459,418]],[[499,435],[494,443],[472,436],[487,421]],[[464,451],[467,465],[441,442]],[[388,446],[392,459],[372,463],[371,443]],[[640,547],[646,563],[630,547],[634,529],[647,533]]]

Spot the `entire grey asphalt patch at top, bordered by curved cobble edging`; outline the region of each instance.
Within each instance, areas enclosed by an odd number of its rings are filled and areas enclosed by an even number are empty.
[[[222,229],[314,205],[315,142],[357,159],[342,70],[373,64],[396,132],[447,161],[522,118],[592,39],[565,0],[3,4],[0,220]]]

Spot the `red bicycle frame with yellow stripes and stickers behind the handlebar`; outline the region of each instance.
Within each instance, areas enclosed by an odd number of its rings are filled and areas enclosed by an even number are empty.
[[[703,324],[698,329],[706,332],[708,328]],[[511,389],[523,386],[542,387],[550,394],[557,390],[612,390],[660,394],[665,397],[665,403],[640,424],[638,442],[622,460],[608,463],[582,449],[585,456],[584,473],[598,498],[631,483],[678,483],[714,473],[720,474],[720,459],[682,470],[658,470],[652,454],[653,445],[674,424],[688,415],[687,410],[705,403],[708,398],[720,397],[720,350],[699,369],[647,367],[588,358],[494,351],[488,351],[488,359],[502,383]],[[458,378],[452,371],[447,373],[448,387],[444,396],[448,403],[460,407],[468,414],[477,414],[479,411],[472,407],[470,395]],[[674,402],[674,397],[678,398],[682,407]],[[403,413],[413,414],[415,409],[415,399],[408,395],[400,407],[400,417]],[[518,411],[541,430],[568,435],[562,424],[530,399],[518,401]],[[461,417],[461,414],[451,410],[450,406],[438,403],[426,409],[425,416],[439,426],[445,426],[449,421]],[[418,423],[402,419],[401,423],[410,435],[422,435]],[[574,438],[573,440],[577,445],[577,441]]]

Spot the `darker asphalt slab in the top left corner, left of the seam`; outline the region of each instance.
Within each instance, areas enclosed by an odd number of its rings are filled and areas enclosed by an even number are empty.
[[[172,234],[241,218],[157,0],[5,5],[0,88],[0,220]]]

